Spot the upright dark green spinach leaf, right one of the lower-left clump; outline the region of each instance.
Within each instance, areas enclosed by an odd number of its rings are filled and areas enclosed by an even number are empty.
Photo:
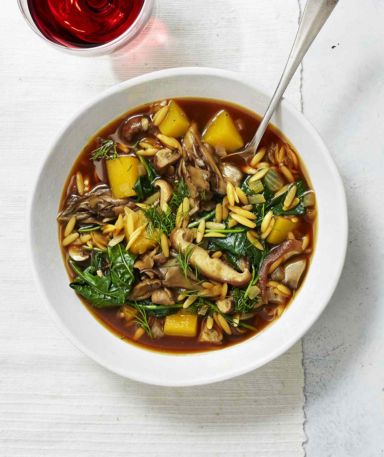
[[[109,271],[112,284],[119,291],[119,298],[124,302],[129,292],[131,292],[132,284],[135,280],[133,275],[133,263],[136,255],[125,250],[122,244],[108,246]]]

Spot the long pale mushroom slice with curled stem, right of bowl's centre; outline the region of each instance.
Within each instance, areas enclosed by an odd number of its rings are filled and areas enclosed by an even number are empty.
[[[220,259],[211,259],[208,252],[200,246],[187,241],[188,234],[185,228],[176,227],[170,234],[170,240],[174,249],[179,249],[183,255],[189,250],[189,264],[197,266],[202,275],[218,282],[227,282],[231,286],[243,287],[251,279],[249,270],[238,273],[231,266]],[[300,244],[301,246],[301,244]]]

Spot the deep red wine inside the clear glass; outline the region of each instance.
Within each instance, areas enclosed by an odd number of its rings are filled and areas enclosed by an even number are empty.
[[[27,0],[33,21],[53,43],[92,48],[124,33],[144,0]]]

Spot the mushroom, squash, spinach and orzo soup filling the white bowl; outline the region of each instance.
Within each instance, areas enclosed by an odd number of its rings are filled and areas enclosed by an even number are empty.
[[[64,184],[70,287],[122,340],[163,352],[246,340],[294,300],[314,249],[298,153],[224,101],[148,103],[90,138]]]

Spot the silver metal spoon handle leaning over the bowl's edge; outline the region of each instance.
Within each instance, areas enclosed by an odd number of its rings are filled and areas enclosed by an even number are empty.
[[[305,53],[308,51],[308,48],[316,38],[316,35],[320,32],[321,27],[323,27],[337,2],[338,0],[307,1],[287,64],[285,65],[283,74],[281,75],[279,84],[275,90],[272,100],[269,103],[267,111],[264,114],[263,120],[261,121],[255,136],[252,138],[251,143],[249,143],[247,148],[248,150],[251,149],[254,153],[256,153],[258,144],[260,143],[263,133],[265,132],[268,122],[270,121],[276,107],[279,105],[279,101],[284,94],[284,90],[287,88],[289,81],[305,56]]]

